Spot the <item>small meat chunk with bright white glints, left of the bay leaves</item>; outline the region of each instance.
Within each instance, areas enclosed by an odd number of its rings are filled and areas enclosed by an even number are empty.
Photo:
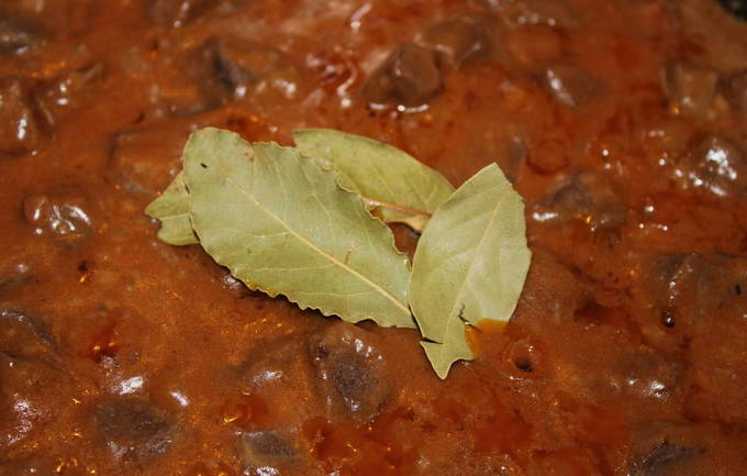
[[[40,236],[76,240],[91,231],[88,202],[77,193],[31,195],[23,199],[26,223]]]

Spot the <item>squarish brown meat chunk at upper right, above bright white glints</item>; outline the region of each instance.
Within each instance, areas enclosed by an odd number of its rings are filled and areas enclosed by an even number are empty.
[[[718,73],[704,66],[677,63],[667,70],[669,104],[690,119],[706,119],[718,86]]]

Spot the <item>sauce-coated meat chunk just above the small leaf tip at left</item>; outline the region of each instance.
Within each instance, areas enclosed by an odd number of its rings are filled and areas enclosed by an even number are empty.
[[[105,176],[129,192],[163,190],[180,168],[185,141],[189,135],[178,128],[135,129],[111,140]]]

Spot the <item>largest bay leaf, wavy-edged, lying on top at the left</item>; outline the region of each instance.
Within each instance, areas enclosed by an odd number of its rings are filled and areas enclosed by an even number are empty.
[[[249,288],[349,322],[414,326],[406,257],[334,171],[208,128],[190,136],[185,173],[202,247]]]

